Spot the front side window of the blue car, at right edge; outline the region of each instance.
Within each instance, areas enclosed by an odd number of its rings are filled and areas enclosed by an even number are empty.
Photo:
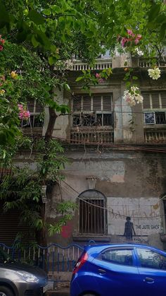
[[[150,249],[137,248],[141,267],[166,270],[166,256]]]

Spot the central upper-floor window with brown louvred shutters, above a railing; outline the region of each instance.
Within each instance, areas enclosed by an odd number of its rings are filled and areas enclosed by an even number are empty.
[[[113,126],[113,95],[72,96],[72,126]]]

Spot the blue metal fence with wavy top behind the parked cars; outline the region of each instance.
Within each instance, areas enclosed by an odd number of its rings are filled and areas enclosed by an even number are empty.
[[[90,241],[89,244],[91,243],[95,242]],[[6,251],[9,259],[43,268],[47,271],[49,280],[54,282],[70,281],[72,269],[84,249],[79,244],[69,244],[67,247],[59,244],[50,244],[48,247],[35,245],[19,249],[3,243],[0,243],[0,248]]]

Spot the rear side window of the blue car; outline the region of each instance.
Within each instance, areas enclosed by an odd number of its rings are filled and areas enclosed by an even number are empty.
[[[133,266],[132,249],[108,249],[102,252],[101,260],[112,264]]]

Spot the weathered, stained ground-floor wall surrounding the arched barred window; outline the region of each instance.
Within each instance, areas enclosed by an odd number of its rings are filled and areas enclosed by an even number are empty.
[[[77,202],[77,196],[89,189],[87,177],[96,177],[95,189],[106,196],[107,237],[110,242],[125,242],[124,227],[126,216],[130,216],[134,224],[135,242],[144,242],[162,247],[159,233],[165,224],[162,217],[162,203],[159,202],[165,190],[162,186],[163,168],[166,160],[156,153],[122,152],[105,150],[75,150],[67,153],[70,163],[64,170],[65,183],[61,182],[62,199]],[[69,185],[69,186],[68,186]],[[56,199],[55,190],[52,201]],[[49,206],[49,204],[47,205]],[[48,220],[53,216],[48,208]],[[50,242],[67,244],[72,242],[72,235],[79,237],[78,210],[63,234],[51,237]],[[52,220],[52,219],[51,219]],[[64,235],[64,231],[66,235]],[[95,235],[91,236],[95,239]]]

